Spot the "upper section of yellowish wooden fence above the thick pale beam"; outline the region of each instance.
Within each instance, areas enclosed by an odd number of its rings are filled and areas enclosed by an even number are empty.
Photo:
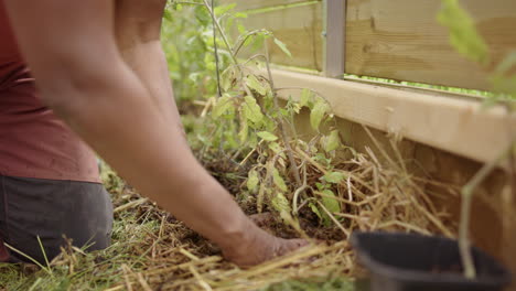
[[[461,4],[490,46],[488,66],[466,60],[450,45],[448,30],[436,20],[439,0],[243,0],[237,9],[249,12],[239,20],[245,28],[268,29],[291,51],[289,57],[271,46],[275,64],[315,69],[329,77],[345,72],[490,90],[491,72],[516,47],[516,1]],[[243,56],[249,55],[243,51]]]

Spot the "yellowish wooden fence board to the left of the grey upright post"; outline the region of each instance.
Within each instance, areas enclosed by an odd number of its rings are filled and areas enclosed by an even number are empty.
[[[287,44],[292,57],[272,42],[270,61],[275,64],[322,71],[322,3],[249,14],[240,20],[247,30],[267,29]],[[233,34],[236,35],[236,32]],[[249,56],[243,52],[240,56]]]

